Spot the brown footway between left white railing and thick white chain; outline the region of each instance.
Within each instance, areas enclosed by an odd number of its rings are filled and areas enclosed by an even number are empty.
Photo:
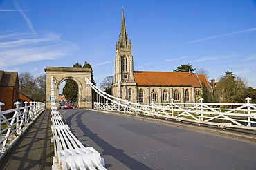
[[[0,161],[0,169],[51,169],[51,113],[44,111]]]

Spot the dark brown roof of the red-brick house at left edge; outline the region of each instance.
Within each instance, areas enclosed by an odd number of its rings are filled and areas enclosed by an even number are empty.
[[[18,72],[5,72],[0,70],[0,86],[14,87],[18,77]]]

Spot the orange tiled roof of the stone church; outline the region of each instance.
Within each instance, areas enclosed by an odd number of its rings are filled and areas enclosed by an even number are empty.
[[[190,72],[147,72],[134,71],[134,79],[137,85],[170,85],[201,87],[205,83],[210,85],[203,74],[191,74]]]

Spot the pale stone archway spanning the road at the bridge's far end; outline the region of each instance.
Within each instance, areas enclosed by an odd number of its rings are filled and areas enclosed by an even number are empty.
[[[51,76],[54,80],[55,99],[58,105],[59,86],[66,80],[73,80],[78,85],[78,107],[91,108],[91,88],[86,85],[85,77],[91,81],[91,68],[46,67],[46,109],[51,109]]]

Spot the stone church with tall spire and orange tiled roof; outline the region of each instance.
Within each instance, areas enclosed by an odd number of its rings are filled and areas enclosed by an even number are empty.
[[[139,103],[196,103],[201,98],[201,86],[210,85],[203,74],[191,72],[134,71],[131,41],[125,28],[125,15],[122,9],[122,22],[116,43],[115,73],[112,94],[123,100]]]

